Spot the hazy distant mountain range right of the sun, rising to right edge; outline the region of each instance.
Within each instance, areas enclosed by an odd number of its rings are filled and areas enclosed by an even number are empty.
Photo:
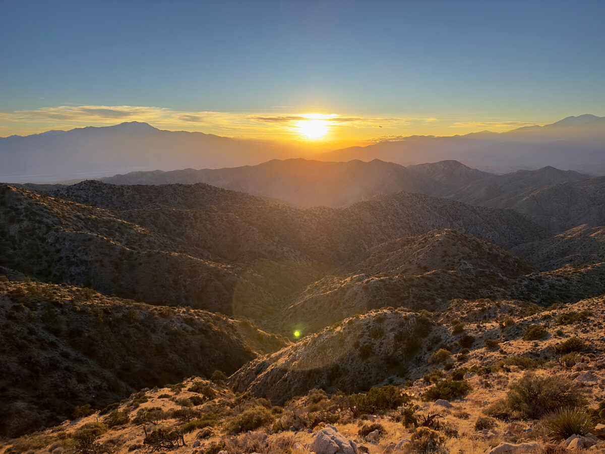
[[[324,153],[315,159],[397,163],[455,159],[473,168],[505,173],[551,165],[592,175],[605,174],[605,117],[584,114],[545,126],[518,128],[506,133],[482,131],[464,136],[410,136],[401,140],[353,146]]]

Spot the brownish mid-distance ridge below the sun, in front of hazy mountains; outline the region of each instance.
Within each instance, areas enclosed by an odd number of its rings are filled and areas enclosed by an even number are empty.
[[[238,168],[135,172],[103,181],[127,185],[207,183],[304,207],[337,208],[400,191],[420,192],[471,205],[514,208],[554,232],[584,223],[601,225],[605,219],[605,177],[551,166],[497,175],[455,160],[405,167],[378,159],[289,159]]]

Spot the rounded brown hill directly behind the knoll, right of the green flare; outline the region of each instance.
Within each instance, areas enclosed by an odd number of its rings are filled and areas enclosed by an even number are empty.
[[[393,240],[301,292],[271,325],[313,332],[387,306],[442,311],[453,298],[502,298],[532,267],[491,243],[446,229]]]

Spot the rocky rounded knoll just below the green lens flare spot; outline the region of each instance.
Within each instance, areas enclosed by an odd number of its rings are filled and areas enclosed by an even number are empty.
[[[356,392],[405,377],[427,355],[418,338],[443,331],[413,312],[376,311],[348,318],[242,367],[229,384],[283,403],[314,387]],[[418,375],[420,370],[414,370]]]

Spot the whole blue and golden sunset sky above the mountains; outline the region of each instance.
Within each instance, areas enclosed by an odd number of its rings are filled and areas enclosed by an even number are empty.
[[[361,143],[605,115],[602,0],[2,0],[1,10],[0,136],[138,120],[290,140],[316,114],[319,140]]]

